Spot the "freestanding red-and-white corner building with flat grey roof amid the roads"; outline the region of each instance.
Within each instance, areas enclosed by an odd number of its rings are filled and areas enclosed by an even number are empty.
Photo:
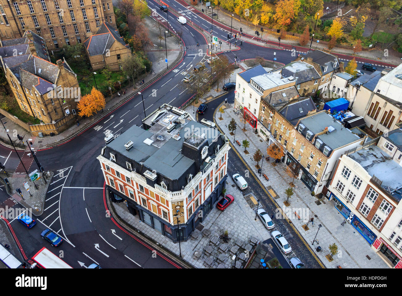
[[[189,113],[164,104],[97,157],[112,201],[164,236],[187,240],[225,187],[227,139]],[[178,216],[176,216],[178,213]]]

